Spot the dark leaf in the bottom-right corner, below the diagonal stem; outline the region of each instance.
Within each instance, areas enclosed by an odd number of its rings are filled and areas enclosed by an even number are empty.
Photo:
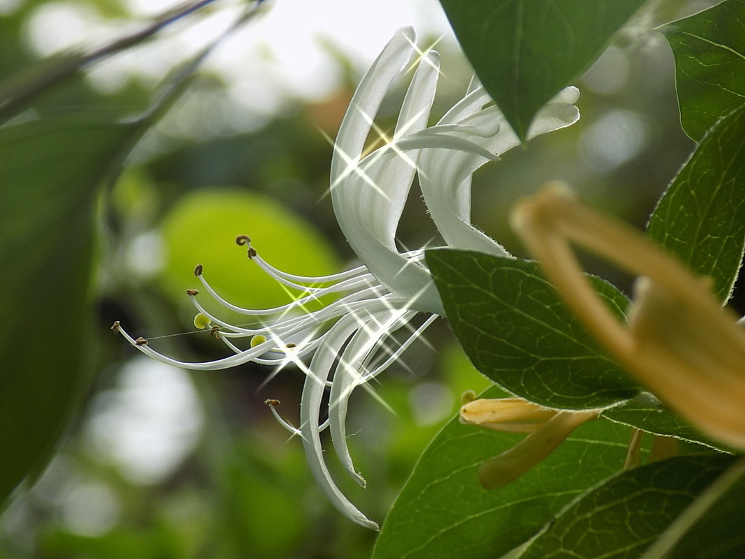
[[[731,559],[745,557],[745,464],[741,460],[671,525],[642,559]],[[672,551],[670,551],[672,550]]]

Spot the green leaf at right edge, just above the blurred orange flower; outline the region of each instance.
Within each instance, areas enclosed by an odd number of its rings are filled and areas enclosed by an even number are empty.
[[[660,199],[647,233],[726,301],[745,248],[745,105],[708,131]]]

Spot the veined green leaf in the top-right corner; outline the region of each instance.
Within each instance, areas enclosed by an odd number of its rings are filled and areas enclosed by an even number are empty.
[[[675,56],[683,130],[698,141],[745,102],[745,0],[725,0],[660,31]]]

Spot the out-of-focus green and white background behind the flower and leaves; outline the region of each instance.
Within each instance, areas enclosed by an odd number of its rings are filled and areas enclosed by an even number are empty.
[[[640,227],[694,148],[680,129],[671,51],[650,31],[714,2],[674,1],[624,31],[577,83],[582,118],[485,165],[473,221],[508,250],[516,198],[547,180],[572,183]],[[243,4],[215,1],[156,39],[57,87],[39,113],[86,107],[136,115],[163,77],[213,40]],[[166,0],[0,0],[0,78],[75,45],[133,31]],[[83,411],[34,487],[0,516],[0,558],[365,558],[375,534],[326,503],[264,399],[297,423],[303,375],[247,365],[189,373],[150,361],[111,335],[121,320],[169,355],[205,361],[222,344],[193,332],[197,262],[227,299],[254,308],[288,301],[236,247],[297,274],[355,264],[325,196],[332,138],[362,73],[396,28],[414,25],[443,57],[434,117],[463,94],[471,71],[436,0],[275,0],[223,42],[165,119],[127,161],[101,203],[95,381]],[[389,127],[403,88],[379,116]],[[406,247],[435,233],[416,188],[399,227]],[[589,267],[628,289],[599,262]],[[369,489],[343,485],[382,521],[417,456],[466,389],[489,382],[463,356],[445,320],[352,399],[352,455]],[[337,479],[344,480],[339,471]]]

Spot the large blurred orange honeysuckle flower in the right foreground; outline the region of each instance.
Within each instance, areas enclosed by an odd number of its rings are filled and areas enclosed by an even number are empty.
[[[518,203],[513,228],[589,332],[702,432],[745,450],[745,331],[676,257],[601,215],[562,183]],[[638,276],[623,323],[587,281],[570,241]]]

